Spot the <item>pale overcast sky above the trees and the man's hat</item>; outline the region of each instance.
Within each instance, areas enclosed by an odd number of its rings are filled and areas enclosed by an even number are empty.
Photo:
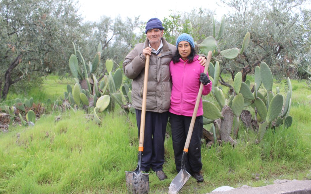
[[[156,1],[140,1],[140,0],[79,0],[80,13],[85,20],[98,21],[100,16],[110,16],[115,18],[119,14],[123,19],[127,16],[134,18],[140,16],[140,20],[147,21],[150,18],[157,17],[163,20],[171,13],[190,12],[193,8],[202,7],[210,10],[216,10],[216,20],[221,20],[221,16],[226,14],[224,8],[217,6],[216,1],[196,0],[156,0]],[[194,4],[195,3],[195,4]]]

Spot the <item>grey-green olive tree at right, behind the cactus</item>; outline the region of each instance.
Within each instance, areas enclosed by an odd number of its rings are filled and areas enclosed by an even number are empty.
[[[282,78],[304,74],[301,70],[310,61],[310,55],[302,57],[308,33],[300,30],[299,25],[307,22],[306,17],[310,15],[310,10],[305,9],[309,0],[222,2],[233,11],[226,16],[225,41],[220,41],[220,47],[236,46],[242,42],[244,34],[250,32],[250,44],[243,55],[234,60],[224,59],[224,67],[233,78],[241,71],[245,81],[246,75],[261,61],[269,64],[272,72]],[[298,58],[301,60],[297,68],[293,68]]]

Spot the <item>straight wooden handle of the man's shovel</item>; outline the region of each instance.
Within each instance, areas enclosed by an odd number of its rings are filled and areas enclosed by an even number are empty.
[[[150,55],[146,54],[144,90],[142,93],[142,116],[141,116],[141,120],[140,120],[140,135],[139,135],[138,151],[144,151],[144,135],[145,135],[145,119],[146,119],[146,101],[147,101],[147,83],[148,83],[148,72],[149,72],[149,59],[150,59]]]

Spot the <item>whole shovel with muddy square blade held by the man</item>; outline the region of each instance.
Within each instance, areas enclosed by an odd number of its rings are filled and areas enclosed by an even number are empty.
[[[140,122],[140,135],[138,146],[138,165],[132,172],[125,171],[126,187],[131,193],[148,193],[149,192],[149,174],[142,173],[140,166],[142,163],[142,152],[144,150],[144,134],[145,134],[145,117],[146,117],[146,100],[147,100],[147,82],[149,71],[150,55],[146,55],[144,91],[142,96],[142,116]]]

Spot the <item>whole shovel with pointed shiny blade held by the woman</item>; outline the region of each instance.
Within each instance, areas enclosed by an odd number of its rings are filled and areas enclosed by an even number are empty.
[[[211,56],[212,56],[212,52],[209,51],[208,55],[207,55],[205,68],[204,68],[205,74],[207,73],[207,69],[208,69],[208,66],[209,66],[210,61],[211,61]],[[172,180],[171,184],[169,185],[169,194],[178,193],[180,191],[180,189],[183,187],[183,185],[191,177],[191,174],[189,174],[186,171],[185,160],[186,160],[186,156],[188,153],[188,147],[189,147],[190,139],[192,136],[194,122],[195,122],[195,119],[197,117],[197,109],[199,108],[202,90],[203,90],[203,83],[200,84],[200,89],[199,89],[199,92],[197,94],[197,100],[195,102],[195,106],[194,106],[194,110],[193,110],[193,114],[192,114],[192,118],[191,118],[191,122],[190,122],[190,126],[189,126],[189,131],[188,131],[185,147],[183,148],[183,156],[181,158],[181,170],[179,171],[179,173],[176,175],[176,177]]]

